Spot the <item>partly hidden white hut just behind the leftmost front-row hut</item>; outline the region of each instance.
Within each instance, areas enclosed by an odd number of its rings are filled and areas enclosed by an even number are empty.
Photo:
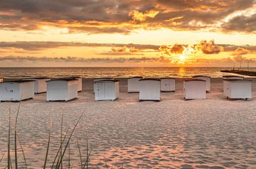
[[[35,77],[35,78],[28,78],[23,80],[33,80],[35,83],[35,94],[44,93],[46,92],[46,81],[50,80],[49,77]]]

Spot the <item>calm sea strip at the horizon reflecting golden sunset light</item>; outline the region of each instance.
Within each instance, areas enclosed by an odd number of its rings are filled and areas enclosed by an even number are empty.
[[[0,67],[0,77],[221,77],[228,74],[220,70],[230,69],[231,67]],[[256,71],[256,67],[250,67],[250,70]]]

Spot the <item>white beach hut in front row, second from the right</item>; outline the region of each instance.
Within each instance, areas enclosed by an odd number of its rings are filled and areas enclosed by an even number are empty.
[[[183,80],[185,99],[206,99],[206,80]]]

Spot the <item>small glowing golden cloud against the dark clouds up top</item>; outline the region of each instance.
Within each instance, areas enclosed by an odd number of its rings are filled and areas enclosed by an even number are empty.
[[[146,21],[147,18],[154,18],[159,11],[144,11],[144,12],[139,12],[139,11],[131,11],[129,13],[129,16],[132,17],[133,21]]]

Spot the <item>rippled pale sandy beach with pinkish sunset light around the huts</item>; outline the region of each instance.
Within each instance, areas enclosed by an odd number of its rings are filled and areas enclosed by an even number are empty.
[[[60,145],[62,114],[65,132],[84,112],[70,143],[73,168],[80,168],[77,141],[85,160],[86,138],[92,150],[90,168],[255,168],[252,80],[249,101],[227,100],[222,79],[213,78],[203,100],[184,101],[183,83],[177,79],[176,92],[161,93],[161,102],[138,102],[139,94],[128,94],[127,80],[120,79],[119,99],[95,102],[92,79],[84,79],[84,90],[71,102],[46,102],[45,93],[21,102],[18,136],[29,168],[42,168],[51,119],[50,166]],[[0,157],[5,153],[0,168],[6,167],[9,105],[13,122],[18,109],[17,102],[0,103]],[[22,165],[20,149],[18,157]],[[66,158],[63,164],[68,166]]]

